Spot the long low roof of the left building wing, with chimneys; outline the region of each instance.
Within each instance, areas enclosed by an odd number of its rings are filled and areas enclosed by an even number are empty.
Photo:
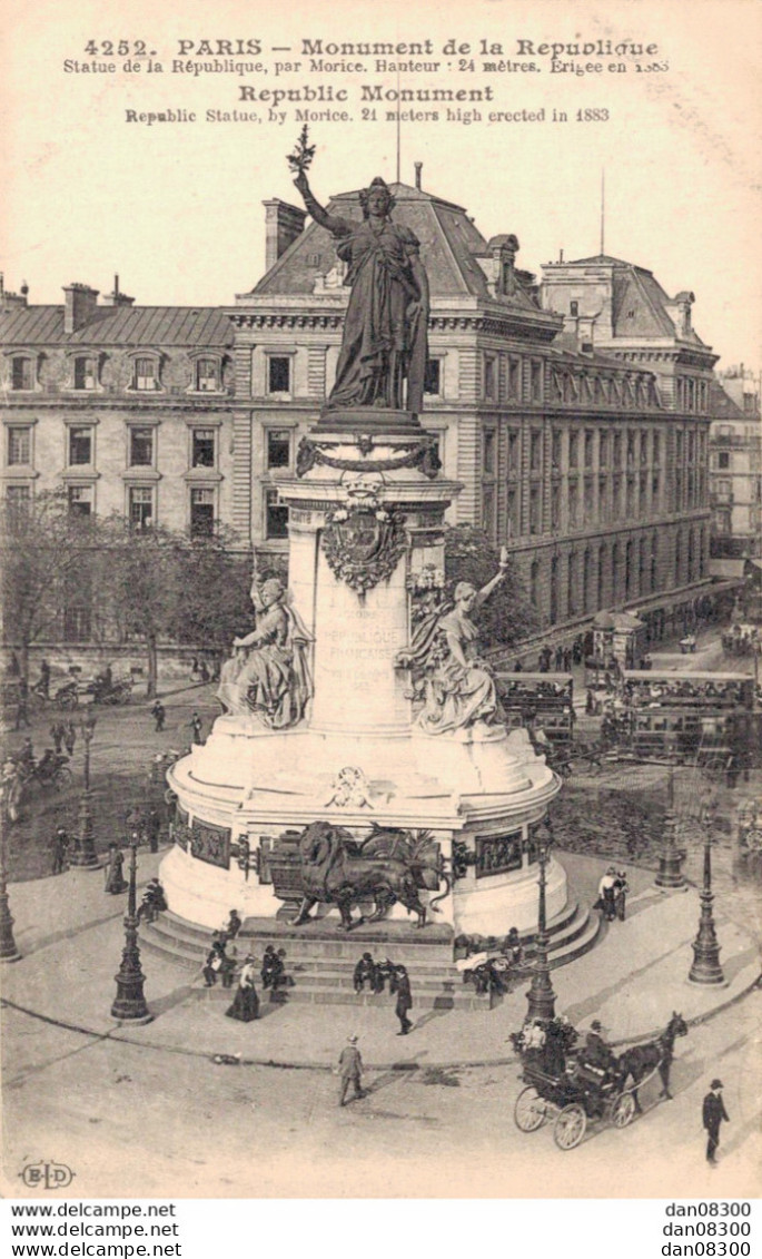
[[[64,332],[63,306],[0,311],[0,344],[231,346],[226,315],[210,306],[98,306],[75,332]]]

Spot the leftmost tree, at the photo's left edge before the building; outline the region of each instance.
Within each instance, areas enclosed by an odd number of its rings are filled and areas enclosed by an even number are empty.
[[[4,637],[19,648],[29,676],[29,648],[59,637],[65,609],[89,606],[98,524],[74,515],[64,490],[44,491],[0,514]]]

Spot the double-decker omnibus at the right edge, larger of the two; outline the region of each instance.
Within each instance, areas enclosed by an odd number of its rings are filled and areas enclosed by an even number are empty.
[[[636,755],[695,757],[724,764],[758,738],[748,674],[625,670],[624,739]],[[742,720],[746,718],[746,720]]]

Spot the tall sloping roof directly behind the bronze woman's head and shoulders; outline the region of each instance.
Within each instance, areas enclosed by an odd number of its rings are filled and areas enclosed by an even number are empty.
[[[463,206],[407,184],[391,184],[390,191],[396,200],[392,220],[410,228],[420,240],[431,295],[494,300],[488,290],[487,276],[477,261],[489,256],[488,242]],[[342,218],[361,219],[360,191],[332,196],[327,209]],[[332,235],[311,222],[254,286],[253,296],[309,295],[314,291],[316,279],[334,264],[336,246]],[[511,297],[498,300],[538,313],[537,305],[521,285],[517,285]]]

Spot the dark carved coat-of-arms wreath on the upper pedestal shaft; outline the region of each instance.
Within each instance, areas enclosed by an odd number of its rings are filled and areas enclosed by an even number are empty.
[[[333,575],[360,596],[391,577],[406,546],[404,519],[370,496],[334,507],[322,536]]]

